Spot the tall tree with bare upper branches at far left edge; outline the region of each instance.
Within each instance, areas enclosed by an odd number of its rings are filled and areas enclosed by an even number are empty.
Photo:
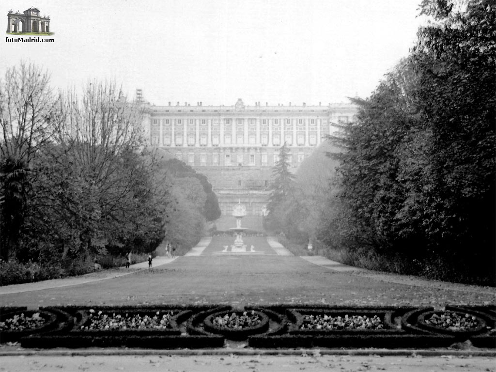
[[[24,224],[35,154],[51,140],[51,116],[56,101],[49,76],[33,64],[21,62],[0,80],[0,208],[1,256],[8,260],[18,249]]]

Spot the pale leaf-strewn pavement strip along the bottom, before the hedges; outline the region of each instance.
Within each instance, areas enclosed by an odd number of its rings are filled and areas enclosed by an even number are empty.
[[[495,359],[469,355],[88,355],[2,356],[0,371],[188,371],[188,372],[301,372],[301,371],[496,371]]]

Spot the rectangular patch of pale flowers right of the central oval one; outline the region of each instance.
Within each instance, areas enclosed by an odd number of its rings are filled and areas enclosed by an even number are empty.
[[[303,315],[303,323],[300,329],[382,329],[382,320],[374,315],[345,315],[345,316],[328,316],[328,315]]]

